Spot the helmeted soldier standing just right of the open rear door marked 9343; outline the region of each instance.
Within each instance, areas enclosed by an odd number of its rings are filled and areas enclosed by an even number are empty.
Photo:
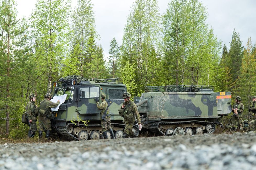
[[[234,113],[232,116],[232,124],[234,125],[237,121],[238,130],[240,130],[241,122],[240,119],[242,119],[242,112],[244,111],[244,105],[241,103],[241,97],[236,96],[236,103],[234,104],[232,108],[232,112]]]

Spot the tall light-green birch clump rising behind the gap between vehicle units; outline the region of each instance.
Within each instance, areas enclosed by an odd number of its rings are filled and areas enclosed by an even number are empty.
[[[136,93],[143,91],[148,84],[149,60],[153,60],[149,54],[157,42],[159,21],[156,0],[136,0],[127,17],[121,46],[121,66],[124,67],[126,62],[136,63]]]

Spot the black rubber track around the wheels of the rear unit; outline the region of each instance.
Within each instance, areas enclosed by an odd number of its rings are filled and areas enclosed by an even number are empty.
[[[155,135],[157,135],[157,136],[164,136],[165,133],[158,129],[159,124],[164,124],[164,125],[168,125],[169,124],[169,125],[172,125],[172,124],[187,124],[187,123],[192,123],[192,122],[197,123],[197,124],[201,124],[201,125],[207,125],[207,124],[210,123],[210,124],[213,125],[214,128],[213,128],[213,130],[211,132],[207,132],[207,133],[210,134],[210,133],[213,133],[215,131],[215,124],[214,123],[212,123],[212,122],[205,122],[205,121],[198,121],[198,120],[181,121],[181,122],[161,122],[161,121],[159,121],[159,122],[151,123],[149,125],[149,129],[153,133],[155,133]]]

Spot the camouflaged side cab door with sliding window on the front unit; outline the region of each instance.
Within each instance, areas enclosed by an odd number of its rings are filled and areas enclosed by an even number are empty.
[[[97,108],[94,99],[99,98],[101,86],[99,85],[86,85],[79,86],[78,91],[78,108],[79,114],[96,115],[101,112]],[[99,100],[101,103],[101,100]]]

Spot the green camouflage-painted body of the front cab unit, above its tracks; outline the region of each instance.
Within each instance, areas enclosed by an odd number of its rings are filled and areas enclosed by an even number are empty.
[[[59,110],[54,112],[54,119],[62,119],[62,121],[75,121],[77,120],[77,117],[79,117],[82,120],[90,120],[90,122],[101,121],[101,110],[97,108],[96,101],[94,99],[100,98],[101,94],[104,94],[106,96],[105,100],[109,105],[111,122],[119,121],[121,123],[123,121],[123,118],[118,114],[118,109],[124,102],[122,99],[122,94],[127,91],[124,84],[107,82],[97,83],[95,81],[81,81],[79,84],[74,85],[71,85],[71,83],[62,83],[53,89],[53,96],[56,95],[55,93],[57,92],[57,89],[65,89],[67,87],[71,87],[72,92],[68,93],[66,101],[60,105]],[[80,97],[80,89],[83,90],[83,88],[88,87],[97,87],[99,89],[97,96],[93,96],[91,98]],[[63,93],[58,95],[63,95]],[[99,104],[101,104],[101,100],[99,100]]]

